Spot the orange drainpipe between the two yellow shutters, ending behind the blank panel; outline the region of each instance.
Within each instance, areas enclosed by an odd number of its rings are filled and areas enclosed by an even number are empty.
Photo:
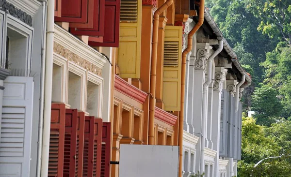
[[[148,118],[148,144],[154,145],[154,121],[155,121],[155,107],[156,107],[156,74],[157,74],[157,50],[158,50],[158,30],[159,18],[164,10],[166,10],[173,3],[173,0],[167,0],[154,13],[153,25],[153,41],[152,41],[152,56],[151,56],[151,71],[150,71],[150,100],[149,100],[149,118]]]

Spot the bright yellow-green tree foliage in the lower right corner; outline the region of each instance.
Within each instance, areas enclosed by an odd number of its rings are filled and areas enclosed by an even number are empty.
[[[238,162],[238,176],[289,177],[291,163],[286,154],[290,149],[290,128],[290,121],[282,120],[267,128],[257,125],[254,118],[242,118],[242,160]],[[282,155],[283,152],[286,154]],[[281,158],[264,160],[254,168],[260,160],[280,155]]]

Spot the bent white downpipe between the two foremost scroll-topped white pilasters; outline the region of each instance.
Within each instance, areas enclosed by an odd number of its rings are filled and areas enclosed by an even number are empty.
[[[205,130],[206,130],[206,111],[207,111],[207,91],[210,83],[212,82],[212,61],[222,51],[223,41],[219,41],[217,50],[209,57],[207,63],[207,81],[203,84],[203,96],[202,96],[202,127],[201,127],[201,144],[200,144],[200,173],[205,171],[204,169],[204,153],[205,153]]]

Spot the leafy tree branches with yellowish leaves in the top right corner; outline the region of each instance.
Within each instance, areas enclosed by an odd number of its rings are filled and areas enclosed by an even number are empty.
[[[258,29],[291,44],[291,0],[246,0],[247,9],[261,19]]]

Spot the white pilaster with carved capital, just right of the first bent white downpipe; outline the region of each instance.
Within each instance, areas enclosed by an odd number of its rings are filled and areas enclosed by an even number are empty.
[[[216,156],[214,159],[214,176],[219,177],[219,145],[220,145],[220,114],[221,114],[221,94],[223,89],[223,83],[226,79],[227,70],[224,67],[215,67],[214,84],[213,84],[213,107],[212,107],[212,143],[213,150],[216,150]]]

